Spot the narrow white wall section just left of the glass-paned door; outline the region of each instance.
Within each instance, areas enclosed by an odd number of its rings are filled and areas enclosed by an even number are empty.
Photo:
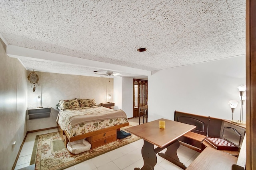
[[[133,78],[122,77],[122,110],[133,117]]]

